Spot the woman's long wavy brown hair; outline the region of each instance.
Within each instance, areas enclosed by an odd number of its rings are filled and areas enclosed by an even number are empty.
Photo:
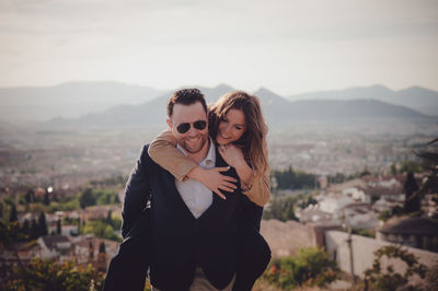
[[[243,151],[246,162],[256,175],[264,175],[268,171],[267,158],[267,125],[263,118],[262,107],[256,96],[243,91],[230,92],[221,96],[209,107],[209,133],[216,141],[219,124],[230,109],[239,109],[245,116],[246,130],[233,143]]]

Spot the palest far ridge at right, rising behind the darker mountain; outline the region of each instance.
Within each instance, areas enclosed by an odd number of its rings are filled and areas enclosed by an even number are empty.
[[[382,85],[373,85],[368,88],[349,88],[337,91],[311,92],[288,97],[290,101],[359,98],[378,100],[410,107],[426,115],[438,116],[438,92],[420,86],[412,86],[401,91],[392,91]]]

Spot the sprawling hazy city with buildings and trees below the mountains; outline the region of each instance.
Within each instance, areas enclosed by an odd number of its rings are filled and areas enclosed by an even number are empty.
[[[163,129],[164,119],[161,126],[112,129],[2,124],[1,218],[15,221],[20,234],[10,242],[13,248],[3,243],[2,266],[44,264],[35,258],[84,272],[93,266],[95,273],[88,276],[102,287],[122,242],[125,183],[141,147]],[[418,264],[436,268],[437,188],[425,190],[407,211],[406,185],[419,189],[430,175],[418,153],[435,151],[427,143],[437,136],[438,124],[408,120],[270,125],[272,198],[261,233],[274,260],[255,290],[288,290],[276,281],[275,266],[309,247],[321,247],[335,263],[337,275],[320,286],[331,290],[364,280],[373,252],[388,245],[403,245]]]

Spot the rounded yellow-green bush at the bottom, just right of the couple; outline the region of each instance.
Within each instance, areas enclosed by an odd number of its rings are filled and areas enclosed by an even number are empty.
[[[336,263],[319,247],[301,248],[293,257],[275,259],[264,275],[270,283],[286,290],[298,286],[325,287],[338,277]]]

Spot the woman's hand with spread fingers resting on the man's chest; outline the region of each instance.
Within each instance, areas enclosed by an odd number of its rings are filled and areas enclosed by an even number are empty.
[[[229,166],[212,167],[208,170],[196,166],[188,172],[187,176],[203,183],[204,186],[216,193],[220,198],[227,199],[226,196],[220,193],[220,189],[226,191],[234,191],[237,186],[233,183],[238,182],[233,177],[220,174],[220,172],[227,172],[228,170],[230,170]]]

